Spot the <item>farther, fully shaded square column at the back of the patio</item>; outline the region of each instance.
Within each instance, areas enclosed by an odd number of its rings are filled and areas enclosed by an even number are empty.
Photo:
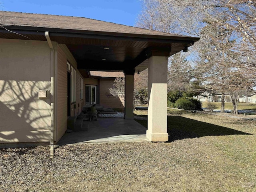
[[[133,115],[133,87],[134,71],[124,72],[124,118],[134,119]]]

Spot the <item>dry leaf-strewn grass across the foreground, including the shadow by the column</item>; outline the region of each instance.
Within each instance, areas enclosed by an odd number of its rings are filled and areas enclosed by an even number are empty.
[[[145,120],[140,120],[141,122]],[[170,142],[0,150],[0,191],[254,192],[255,121],[168,116]]]

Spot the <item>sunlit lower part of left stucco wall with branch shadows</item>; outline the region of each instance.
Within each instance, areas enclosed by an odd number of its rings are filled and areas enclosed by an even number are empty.
[[[50,140],[50,98],[38,99],[49,81],[0,80],[0,143]]]

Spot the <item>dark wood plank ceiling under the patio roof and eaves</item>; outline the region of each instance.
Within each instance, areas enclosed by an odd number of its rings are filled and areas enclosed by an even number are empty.
[[[42,34],[19,34],[0,32],[0,38],[43,40]],[[135,70],[141,72],[148,67],[146,50],[149,48],[161,48],[170,50],[169,55],[182,50],[190,44],[150,42],[146,40],[123,40],[104,38],[82,38],[54,35],[50,38],[60,44],[66,44],[78,63],[78,69],[99,71],[124,71]]]

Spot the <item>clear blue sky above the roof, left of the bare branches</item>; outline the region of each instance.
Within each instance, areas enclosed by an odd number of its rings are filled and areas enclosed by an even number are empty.
[[[0,0],[2,10],[79,16],[134,26],[140,0]]]

